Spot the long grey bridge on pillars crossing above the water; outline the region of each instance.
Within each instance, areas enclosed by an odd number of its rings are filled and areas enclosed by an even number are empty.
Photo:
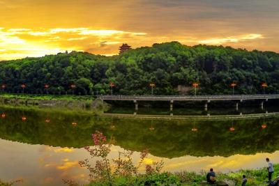
[[[227,101],[233,100],[236,102],[236,109],[239,107],[239,102],[243,100],[260,100],[260,105],[264,107],[264,101],[271,99],[279,99],[279,94],[269,95],[100,95],[100,100],[121,100],[133,101],[135,110],[138,109],[138,101],[168,101],[170,102],[170,111],[172,111],[174,101],[202,101],[204,109],[207,110],[207,105],[211,101]]]

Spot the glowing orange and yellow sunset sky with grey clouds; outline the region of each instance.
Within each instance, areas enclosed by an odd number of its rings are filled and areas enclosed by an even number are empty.
[[[179,41],[279,52],[278,0],[0,0],[0,61]]]

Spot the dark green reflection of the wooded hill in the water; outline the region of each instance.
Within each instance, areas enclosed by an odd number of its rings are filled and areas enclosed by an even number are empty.
[[[199,121],[198,132],[193,132],[193,121],[142,121],[131,119],[95,118],[89,114],[5,109],[0,118],[0,137],[28,144],[81,148],[91,144],[91,133],[102,131],[117,146],[141,151],[148,148],[159,157],[229,156],[234,154],[271,153],[279,150],[279,121],[262,119],[234,121],[234,132],[229,121]],[[27,121],[20,118],[25,116]],[[50,123],[45,122],[49,116]],[[72,123],[78,125],[73,127]],[[113,123],[112,123],[113,122]],[[114,128],[112,130],[112,125]],[[150,126],[156,130],[150,131]],[[194,124],[195,125],[195,124]]]

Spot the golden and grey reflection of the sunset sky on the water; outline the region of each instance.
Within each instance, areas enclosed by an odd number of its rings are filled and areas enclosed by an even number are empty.
[[[0,175],[2,180],[10,181],[22,178],[24,183],[18,185],[63,185],[62,179],[78,180],[85,183],[88,172],[80,168],[78,161],[89,158],[84,149],[56,148],[44,145],[29,145],[0,139]],[[123,150],[112,147],[110,158]],[[265,158],[270,157],[279,163],[279,151],[275,153],[257,153],[256,155],[233,155],[230,157],[193,157],[184,156],[173,159],[149,156],[144,162],[163,160],[167,171],[200,171],[210,169],[217,171],[236,171],[238,169],[255,169],[266,166]],[[139,153],[133,155],[135,162]],[[89,159],[90,160],[90,159]]]

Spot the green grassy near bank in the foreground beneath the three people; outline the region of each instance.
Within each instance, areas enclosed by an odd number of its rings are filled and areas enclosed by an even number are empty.
[[[273,180],[279,175],[279,164],[274,166]],[[242,176],[246,175],[248,178],[247,186],[249,185],[268,185],[266,181],[266,168],[240,170],[230,173],[216,173],[219,182],[225,182],[229,186],[241,185]],[[201,173],[181,171],[178,173],[154,173],[151,175],[141,175],[133,178],[116,177],[112,180],[112,185],[181,185],[181,186],[198,186],[203,185],[202,182],[206,180],[206,172]],[[109,183],[99,182],[90,183],[86,186],[106,186]],[[206,184],[205,184],[206,185]]]

